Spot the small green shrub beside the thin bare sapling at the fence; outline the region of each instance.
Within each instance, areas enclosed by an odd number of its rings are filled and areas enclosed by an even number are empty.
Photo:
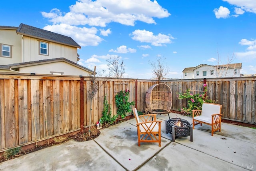
[[[114,123],[114,121],[116,121],[117,117],[118,117],[118,115],[111,116],[111,107],[108,104],[108,101],[106,100],[106,95],[105,95],[104,102],[103,102],[102,117],[100,118],[100,123],[105,124],[108,127],[108,125],[112,125]]]

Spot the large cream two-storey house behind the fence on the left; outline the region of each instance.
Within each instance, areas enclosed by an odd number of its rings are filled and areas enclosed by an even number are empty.
[[[77,48],[68,36],[26,24],[0,26],[0,72],[90,76],[77,64]]]

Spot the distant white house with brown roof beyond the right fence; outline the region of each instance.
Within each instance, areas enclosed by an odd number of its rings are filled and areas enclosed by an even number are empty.
[[[196,67],[185,68],[183,72],[184,79],[195,78],[223,78],[240,77],[242,63],[211,66],[200,64]]]

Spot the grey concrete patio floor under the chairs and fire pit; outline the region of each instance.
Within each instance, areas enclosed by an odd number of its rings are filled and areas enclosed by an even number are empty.
[[[170,113],[192,123],[191,117]],[[135,119],[100,130],[91,141],[67,141],[0,163],[3,171],[233,171],[256,170],[256,129],[222,123],[222,132],[211,136],[210,126],[196,125],[190,137],[165,133],[168,114],[162,120],[162,146],[142,143],[138,147]]]

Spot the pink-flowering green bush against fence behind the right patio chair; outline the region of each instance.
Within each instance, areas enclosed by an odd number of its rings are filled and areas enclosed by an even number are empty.
[[[206,92],[207,92],[207,84],[203,84],[204,91],[203,93],[192,94],[190,93],[190,89],[187,89],[186,92],[179,92],[177,93],[178,99],[187,99],[187,107],[183,107],[179,109],[182,115],[192,115],[192,110],[202,109],[202,104],[204,102],[208,103],[215,103],[215,101],[211,99],[207,99]]]

